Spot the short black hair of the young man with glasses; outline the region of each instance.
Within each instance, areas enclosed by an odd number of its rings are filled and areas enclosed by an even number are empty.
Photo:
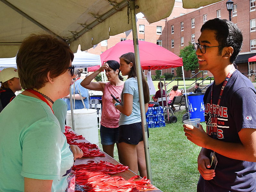
[[[204,23],[200,30],[201,33],[205,29],[215,31],[215,39],[219,42],[219,45],[233,47],[234,52],[230,57],[230,62],[233,63],[241,51],[243,43],[242,32],[236,24],[226,19],[215,18]],[[221,54],[223,48],[219,47],[219,54]]]

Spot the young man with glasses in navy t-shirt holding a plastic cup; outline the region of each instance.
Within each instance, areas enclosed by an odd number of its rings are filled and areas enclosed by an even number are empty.
[[[199,69],[214,76],[204,95],[206,132],[184,125],[188,140],[202,147],[198,192],[256,191],[256,90],[233,65],[242,41],[234,23],[216,18],[195,44]]]

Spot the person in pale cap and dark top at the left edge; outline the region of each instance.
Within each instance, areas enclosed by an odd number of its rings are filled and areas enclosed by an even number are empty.
[[[0,71],[0,82],[0,99],[2,107],[5,108],[16,96],[15,92],[22,89],[17,69],[10,67]]]

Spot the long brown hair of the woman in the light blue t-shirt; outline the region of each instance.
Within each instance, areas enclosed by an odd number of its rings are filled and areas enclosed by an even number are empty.
[[[127,64],[131,63],[133,64],[131,71],[128,75],[128,79],[131,77],[136,77],[137,78],[137,73],[136,73],[136,63],[135,63],[135,55],[133,52],[129,52],[129,53],[125,53],[123,55],[121,55],[121,57],[119,59],[123,59]],[[149,102],[149,88],[148,88],[148,83],[144,77],[144,74],[142,72],[142,69],[140,69],[141,71],[141,77],[142,77],[142,87],[143,87],[143,94],[144,94],[144,103],[148,103]]]

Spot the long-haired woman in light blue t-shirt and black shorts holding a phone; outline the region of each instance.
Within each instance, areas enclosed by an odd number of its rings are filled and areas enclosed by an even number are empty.
[[[125,53],[120,57],[120,70],[123,76],[128,75],[128,79],[124,82],[121,104],[114,99],[112,102],[116,109],[121,112],[118,140],[122,159],[121,163],[128,166],[136,174],[140,172],[141,177],[147,177],[134,53]],[[145,111],[147,111],[149,88],[141,69],[140,72],[142,77]]]

